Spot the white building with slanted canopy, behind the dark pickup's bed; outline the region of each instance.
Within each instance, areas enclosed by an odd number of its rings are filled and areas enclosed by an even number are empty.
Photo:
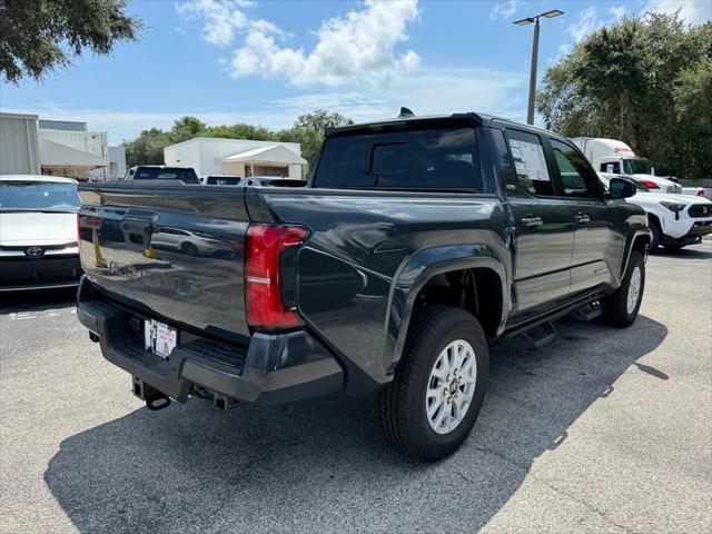
[[[196,137],[164,149],[166,165],[192,167],[198,176],[301,178],[307,160],[298,142]]]

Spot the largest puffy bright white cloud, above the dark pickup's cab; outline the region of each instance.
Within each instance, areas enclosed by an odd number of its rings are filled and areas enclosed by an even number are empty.
[[[251,28],[235,51],[235,78],[281,78],[295,86],[379,82],[409,72],[415,51],[396,51],[418,17],[417,0],[366,0],[360,9],[322,22],[310,51],[280,46],[269,29]]]

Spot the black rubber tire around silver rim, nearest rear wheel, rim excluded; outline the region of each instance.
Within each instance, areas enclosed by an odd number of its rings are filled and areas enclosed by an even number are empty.
[[[475,388],[459,424],[447,434],[438,434],[427,417],[426,390],[441,352],[457,339],[467,342],[475,353]],[[487,340],[472,314],[441,305],[418,312],[411,322],[403,358],[393,382],[376,394],[376,421],[386,439],[405,454],[426,462],[455,452],[469,435],[479,414],[488,367]]]

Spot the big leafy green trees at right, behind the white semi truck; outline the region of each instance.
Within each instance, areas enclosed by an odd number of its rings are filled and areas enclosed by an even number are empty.
[[[710,61],[712,22],[690,27],[676,14],[626,17],[587,36],[546,71],[537,110],[565,136],[627,142],[662,174],[709,175],[709,149],[693,141],[704,137],[704,121],[691,120],[681,107],[689,95],[704,101]]]

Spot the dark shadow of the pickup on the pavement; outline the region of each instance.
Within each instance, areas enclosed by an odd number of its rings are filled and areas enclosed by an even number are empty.
[[[65,439],[44,479],[81,532],[475,532],[533,461],[668,335],[646,317],[629,329],[557,326],[562,337],[538,352],[515,340],[493,347],[474,433],[437,464],[392,451],[363,399],[227,414],[195,399]],[[657,369],[634,372],[665,385]]]

